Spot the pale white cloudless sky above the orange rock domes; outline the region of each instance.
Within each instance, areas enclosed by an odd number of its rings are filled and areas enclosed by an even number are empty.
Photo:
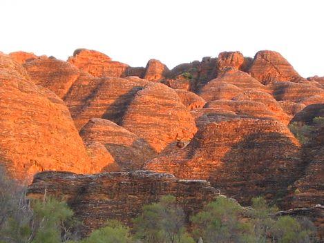
[[[66,60],[76,48],[131,66],[169,68],[225,50],[280,52],[303,76],[324,76],[323,0],[0,0],[0,50]]]

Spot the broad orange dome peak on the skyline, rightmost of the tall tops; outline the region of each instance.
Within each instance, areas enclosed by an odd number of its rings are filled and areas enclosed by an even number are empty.
[[[261,50],[256,53],[249,68],[249,74],[262,84],[302,79],[282,55],[270,50]]]

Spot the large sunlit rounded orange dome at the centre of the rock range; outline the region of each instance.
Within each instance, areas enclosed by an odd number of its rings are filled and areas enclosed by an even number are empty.
[[[171,142],[190,140],[196,124],[175,91],[164,84],[147,84],[128,105],[121,125],[142,137],[158,153]]]

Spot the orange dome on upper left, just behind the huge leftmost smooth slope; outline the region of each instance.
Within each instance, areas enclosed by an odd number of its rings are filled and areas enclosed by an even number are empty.
[[[35,59],[23,65],[32,81],[53,91],[61,99],[79,78],[81,72],[66,61],[57,59]]]

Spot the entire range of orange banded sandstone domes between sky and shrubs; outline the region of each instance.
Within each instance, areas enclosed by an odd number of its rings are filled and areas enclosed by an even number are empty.
[[[68,61],[27,52],[0,54],[1,163],[17,179],[45,170],[123,171],[37,176],[35,185],[53,183],[53,191],[88,190],[87,183],[94,182],[85,204],[78,201],[80,193],[71,196],[75,208],[84,205],[84,220],[89,205],[103,198],[102,178],[117,185],[109,194],[122,202],[116,217],[123,208],[135,215],[146,202],[142,193],[158,198],[164,182],[171,182],[164,175],[129,173],[143,168],[207,179],[242,204],[256,195],[282,208],[324,204],[323,128],[313,122],[324,117],[323,80],[304,79],[269,50],[253,59],[221,52],[171,70],[155,59],[131,67],[86,49],[76,50]],[[316,127],[309,143],[298,143],[287,128],[292,122]],[[144,178],[151,178],[150,189]],[[155,183],[157,178],[161,181]],[[60,184],[68,180],[81,189]],[[202,197],[195,191],[204,191],[200,182],[171,180],[166,193]],[[194,186],[182,191],[184,185]],[[177,186],[181,190],[173,191]],[[131,197],[124,197],[127,193]],[[134,211],[129,198],[138,199]],[[98,212],[93,217],[100,217]],[[90,221],[88,229],[99,225]]]

